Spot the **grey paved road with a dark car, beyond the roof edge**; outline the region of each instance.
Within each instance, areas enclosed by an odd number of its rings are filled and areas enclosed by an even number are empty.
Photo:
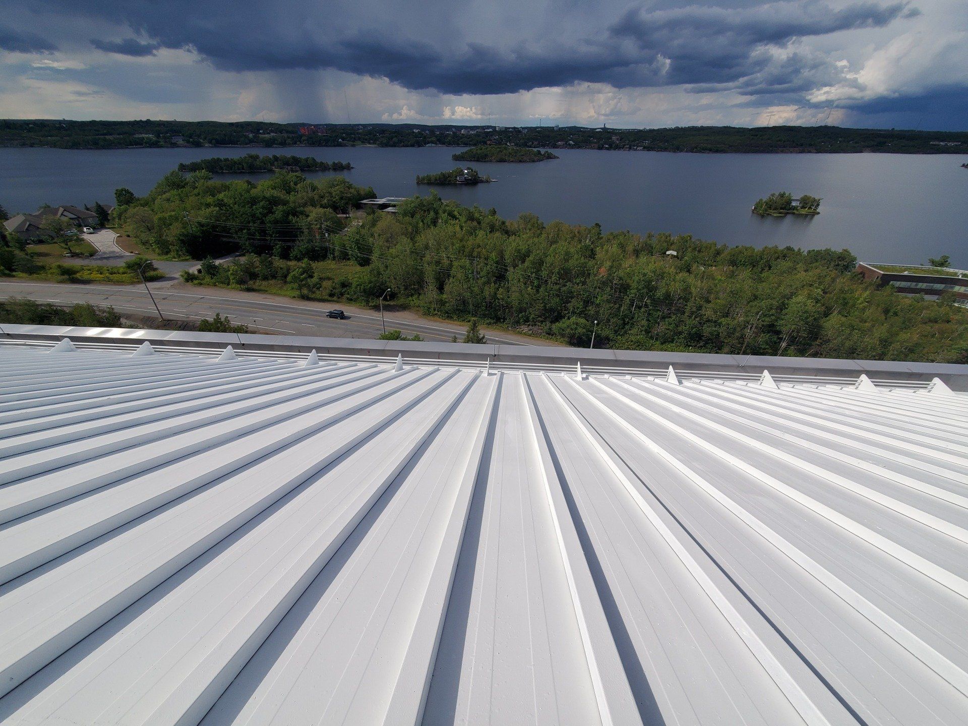
[[[249,325],[254,332],[277,335],[316,335],[333,338],[374,339],[380,332],[379,313],[366,308],[340,307],[346,320],[330,319],[325,313],[332,304],[288,300],[259,293],[210,287],[189,286],[179,282],[152,285],[155,300],[166,318],[175,320],[212,318],[216,313],[232,322]],[[118,313],[156,317],[144,287],[58,285],[56,283],[0,281],[0,298],[26,297],[40,302],[74,304],[88,302],[109,305]],[[387,330],[396,328],[408,335],[419,333],[424,340],[450,341],[464,335],[465,327],[420,318],[408,312],[386,315]],[[553,345],[504,331],[488,331],[488,341],[508,345]]]

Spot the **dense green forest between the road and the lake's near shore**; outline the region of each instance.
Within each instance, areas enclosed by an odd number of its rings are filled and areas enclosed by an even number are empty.
[[[588,346],[968,362],[968,310],[895,294],[847,250],[727,247],[690,235],[503,220],[435,194],[346,215],[373,190],[279,173],[254,184],[173,172],[116,214],[198,284],[387,301]],[[667,255],[674,251],[676,256]]]

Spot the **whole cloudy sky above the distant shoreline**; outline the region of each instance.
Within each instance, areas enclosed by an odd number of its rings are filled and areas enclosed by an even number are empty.
[[[968,0],[0,0],[0,117],[968,130]]]

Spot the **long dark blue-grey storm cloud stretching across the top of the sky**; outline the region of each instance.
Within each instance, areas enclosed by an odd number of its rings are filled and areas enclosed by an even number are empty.
[[[315,0],[38,2],[58,13],[125,22],[160,45],[194,48],[223,70],[335,69],[386,77],[411,90],[470,95],[577,82],[627,88],[744,79],[751,92],[770,83],[790,90],[808,85],[804,69],[791,63],[777,70],[765,50],[917,14],[898,2],[857,2],[836,10],[820,0],[789,0],[748,8],[623,6],[611,12],[604,3],[597,25],[569,25],[552,5],[545,8],[547,26],[515,28],[499,4],[490,17],[475,15],[471,27],[462,24],[459,4],[435,0],[426,0],[419,12],[378,0],[331,0],[325,6]],[[95,45],[129,55],[154,49],[136,41]]]

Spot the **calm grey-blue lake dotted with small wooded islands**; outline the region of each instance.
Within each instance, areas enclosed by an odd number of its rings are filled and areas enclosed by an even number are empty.
[[[349,162],[355,168],[338,173],[379,197],[426,195],[431,188],[418,187],[414,177],[458,166],[450,158],[457,150],[0,148],[0,204],[14,214],[44,202],[112,202],[116,187],[143,195],[179,162],[253,152]],[[434,189],[506,218],[533,212],[545,221],[687,233],[730,245],[848,248],[867,261],[926,263],[948,254],[968,267],[965,155],[557,153],[559,160],[537,164],[474,164],[497,183]],[[821,214],[750,213],[757,198],[776,191],[823,197]]]

